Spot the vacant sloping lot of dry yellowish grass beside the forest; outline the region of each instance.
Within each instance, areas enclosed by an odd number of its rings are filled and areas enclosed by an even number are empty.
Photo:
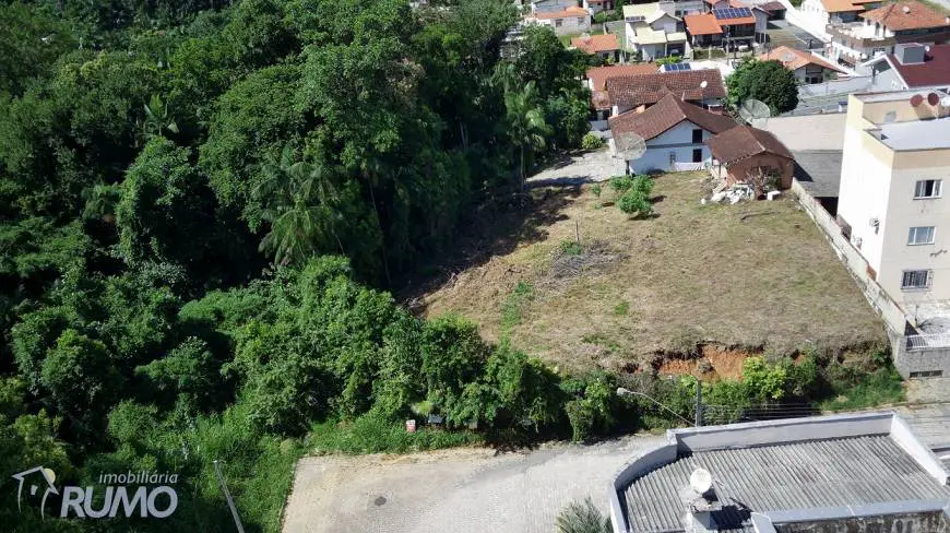
[[[527,220],[480,238],[479,261],[415,304],[428,316],[458,311],[487,337],[510,334],[570,368],[696,342],[791,352],[886,339],[794,199],[704,206],[703,176],[657,178],[648,220],[602,206],[613,200],[606,183],[599,199],[590,187],[548,191]]]

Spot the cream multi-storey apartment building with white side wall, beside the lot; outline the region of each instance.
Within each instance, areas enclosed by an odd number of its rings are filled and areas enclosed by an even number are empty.
[[[838,218],[868,275],[913,313],[950,299],[950,95],[848,97]]]

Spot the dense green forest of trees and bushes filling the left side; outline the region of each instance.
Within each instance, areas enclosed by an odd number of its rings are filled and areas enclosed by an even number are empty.
[[[450,427],[566,427],[550,370],[385,292],[586,130],[586,60],[530,31],[500,61],[516,19],[0,0],[2,529],[233,531],[217,459],[248,530],[276,531],[314,425],[421,402]],[[11,478],[37,465],[174,472],[178,510],[44,521]]]

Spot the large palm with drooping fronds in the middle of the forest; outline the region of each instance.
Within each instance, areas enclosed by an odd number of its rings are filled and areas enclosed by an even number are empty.
[[[265,179],[252,191],[263,205],[261,218],[271,225],[260,250],[274,253],[274,263],[282,265],[302,262],[333,244],[343,253],[334,229],[333,187],[325,168],[295,162],[294,150],[286,146],[280,162],[264,164],[263,171]]]

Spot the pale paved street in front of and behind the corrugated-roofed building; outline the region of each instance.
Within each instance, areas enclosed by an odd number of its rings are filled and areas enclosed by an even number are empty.
[[[950,445],[950,403],[898,410],[928,446]],[[496,457],[491,450],[306,458],[284,533],[550,533],[557,512],[591,495],[606,511],[620,467],[662,442],[633,436]],[[938,457],[950,463],[950,447]]]

